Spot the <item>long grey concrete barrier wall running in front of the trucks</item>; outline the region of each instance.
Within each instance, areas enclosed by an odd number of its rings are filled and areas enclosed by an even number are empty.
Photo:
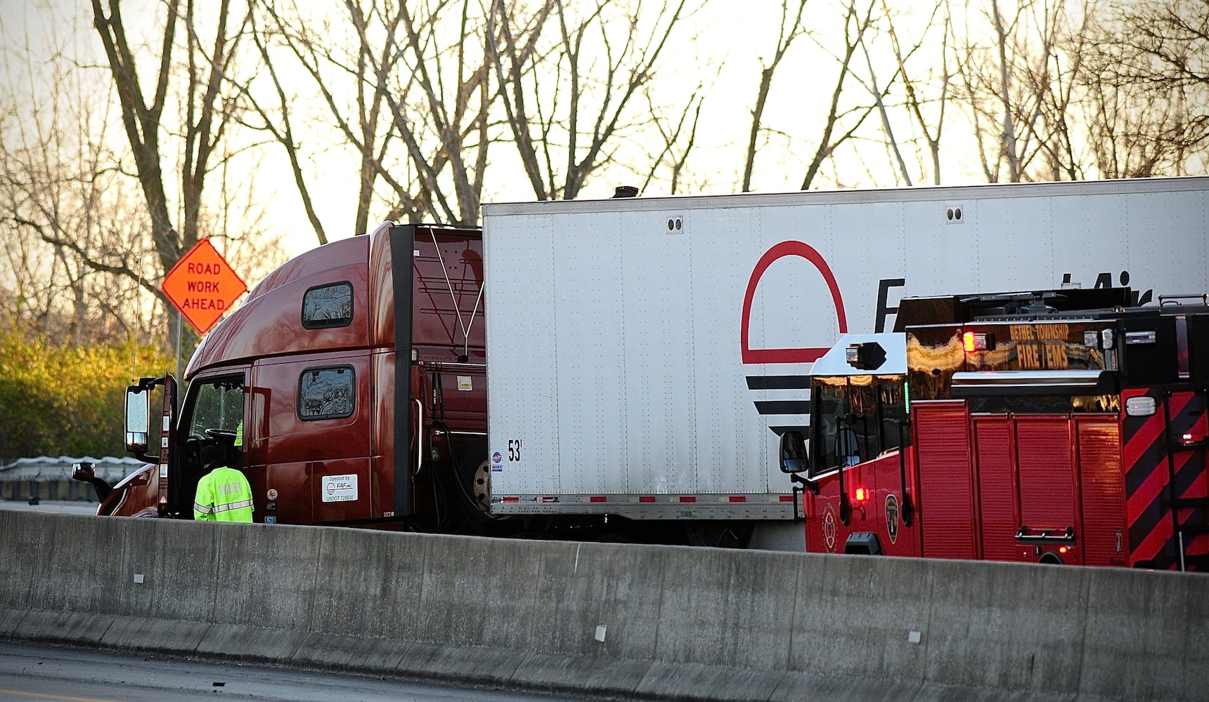
[[[0,534],[19,639],[652,697],[1209,695],[1204,575],[28,511]]]

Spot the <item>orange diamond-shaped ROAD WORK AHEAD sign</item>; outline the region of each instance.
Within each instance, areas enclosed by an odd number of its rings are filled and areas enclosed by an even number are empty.
[[[206,333],[248,291],[209,239],[181,256],[163,277],[163,294],[198,332]]]

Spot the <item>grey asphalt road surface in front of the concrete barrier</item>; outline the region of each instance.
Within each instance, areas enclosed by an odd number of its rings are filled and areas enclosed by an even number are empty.
[[[0,642],[0,702],[550,702],[499,690]]]

